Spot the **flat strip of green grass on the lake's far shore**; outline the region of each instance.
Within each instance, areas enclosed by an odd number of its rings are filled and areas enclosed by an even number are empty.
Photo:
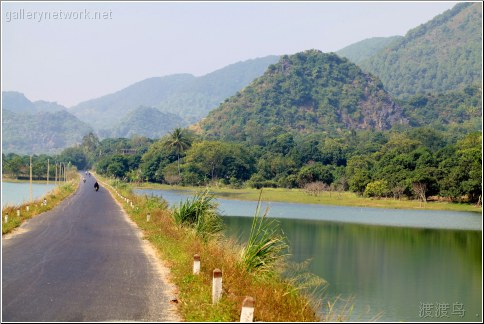
[[[163,190],[188,190],[196,192],[199,187],[169,186],[154,183],[146,183],[138,186],[140,189],[163,189]],[[210,188],[215,196],[225,199],[240,199],[257,201],[259,199],[259,189],[244,188]],[[264,201],[279,201],[303,204],[320,204],[335,206],[371,207],[371,208],[391,208],[391,209],[420,209],[420,210],[448,210],[448,211],[467,211],[482,213],[482,206],[465,203],[452,203],[445,201],[429,201],[425,204],[417,200],[393,198],[373,199],[360,197],[352,192],[325,192],[319,196],[308,195],[301,189],[284,188],[264,188],[262,199]]]

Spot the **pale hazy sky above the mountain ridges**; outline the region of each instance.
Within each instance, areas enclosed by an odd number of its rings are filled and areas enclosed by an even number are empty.
[[[455,4],[2,1],[2,90],[70,107],[148,77],[403,36]]]

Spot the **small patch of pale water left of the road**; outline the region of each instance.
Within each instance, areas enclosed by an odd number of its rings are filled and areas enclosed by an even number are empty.
[[[32,198],[42,198],[55,188],[53,184],[32,184]],[[13,183],[2,181],[2,208],[6,205],[21,205],[30,200],[30,184],[27,182]]]

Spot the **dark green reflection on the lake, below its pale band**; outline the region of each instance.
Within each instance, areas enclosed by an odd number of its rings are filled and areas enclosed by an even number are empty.
[[[312,259],[310,271],[329,282],[329,296],[355,297],[352,320],[480,321],[482,234],[279,219],[293,259]],[[244,240],[247,217],[224,217],[226,232]],[[432,303],[432,317],[420,317]],[[452,315],[462,304],[465,316]],[[437,317],[448,304],[449,317]],[[367,308],[371,311],[368,313]],[[479,316],[476,316],[479,314]],[[439,314],[442,315],[442,314]]]

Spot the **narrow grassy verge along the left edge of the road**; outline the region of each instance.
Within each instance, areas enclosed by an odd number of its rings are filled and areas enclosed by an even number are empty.
[[[40,199],[34,200],[31,203],[5,206],[5,208],[2,208],[2,235],[10,233],[26,220],[51,210],[72,195],[79,186],[80,177],[77,172],[72,171],[69,178],[73,180],[61,183]],[[47,200],[46,205],[43,204],[44,198]],[[7,222],[5,222],[6,215],[8,215]]]

